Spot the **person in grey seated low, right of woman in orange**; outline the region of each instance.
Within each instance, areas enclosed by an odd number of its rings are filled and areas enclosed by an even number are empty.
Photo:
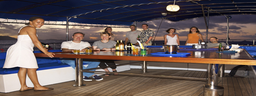
[[[207,43],[207,48],[219,48],[220,43],[222,44],[223,48],[227,48],[227,45],[224,42],[218,43],[217,37],[210,37],[210,41],[212,43]]]

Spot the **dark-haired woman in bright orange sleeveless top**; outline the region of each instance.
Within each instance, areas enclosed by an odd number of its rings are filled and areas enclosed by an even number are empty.
[[[200,34],[200,31],[197,27],[191,27],[189,30],[189,34],[187,35],[186,44],[185,45],[198,45],[198,41],[202,40],[203,36]]]

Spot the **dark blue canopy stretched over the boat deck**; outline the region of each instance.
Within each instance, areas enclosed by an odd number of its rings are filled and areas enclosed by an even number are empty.
[[[177,22],[203,17],[208,8],[210,16],[256,14],[256,0],[176,0],[180,10],[168,12],[166,7],[173,3],[174,0],[0,0],[0,18],[28,20],[41,16],[45,21],[67,21],[67,17],[76,17],[69,21],[130,25],[160,18]]]

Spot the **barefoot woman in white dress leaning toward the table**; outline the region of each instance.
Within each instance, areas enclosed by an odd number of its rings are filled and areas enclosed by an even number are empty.
[[[37,79],[36,70],[38,69],[37,61],[33,53],[33,47],[36,46],[44,54],[53,58],[55,55],[52,52],[48,52],[43,48],[41,42],[37,38],[36,28],[43,26],[44,20],[41,17],[31,17],[27,26],[22,27],[18,33],[17,42],[12,45],[6,53],[6,59],[3,68],[20,67],[18,72],[19,81],[21,84],[20,91],[26,91],[30,89],[37,90],[53,90],[53,88],[47,88],[39,84]],[[28,87],[26,84],[26,77],[32,81],[33,87]]]

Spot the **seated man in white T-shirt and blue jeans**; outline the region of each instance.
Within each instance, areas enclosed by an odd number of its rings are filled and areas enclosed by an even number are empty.
[[[72,51],[74,52],[74,49],[79,49],[82,52],[85,52],[86,48],[90,48],[93,50],[93,48],[91,47],[91,45],[88,42],[84,42],[82,41],[84,39],[85,34],[80,33],[80,32],[76,32],[73,34],[72,41],[65,41],[62,42],[61,44],[61,50],[63,52],[67,52],[67,51]],[[85,67],[83,66],[83,69],[90,69],[90,68],[97,68],[98,65],[100,64],[100,60],[89,60],[89,59],[83,59],[83,63],[87,63],[88,66]],[[73,69],[75,69],[75,61],[74,59],[61,59],[60,60],[62,63],[66,63],[69,64]],[[90,71],[95,71],[95,70],[90,70]],[[100,81],[103,80],[103,78],[101,78],[100,76],[96,75],[95,73],[92,72],[83,72],[84,77],[84,81],[92,81],[91,79],[89,79],[88,77],[92,77],[94,78],[96,81]]]

